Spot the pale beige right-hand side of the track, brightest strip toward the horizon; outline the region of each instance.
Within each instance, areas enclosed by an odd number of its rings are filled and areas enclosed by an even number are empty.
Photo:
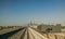
[[[28,28],[28,30],[30,31],[29,34],[32,35],[31,39],[48,39],[47,37],[43,37],[41,34],[39,34],[38,31],[31,29],[30,27]]]

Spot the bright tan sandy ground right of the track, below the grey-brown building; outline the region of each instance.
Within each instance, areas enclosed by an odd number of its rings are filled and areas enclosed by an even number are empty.
[[[47,34],[43,34],[43,36],[47,37]],[[65,32],[48,34],[48,36],[49,36],[49,39],[65,39]]]

